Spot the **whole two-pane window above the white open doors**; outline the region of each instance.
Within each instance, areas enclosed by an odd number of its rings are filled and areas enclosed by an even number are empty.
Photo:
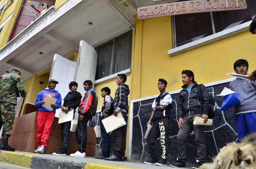
[[[126,32],[96,48],[96,80],[131,67],[132,31]]]

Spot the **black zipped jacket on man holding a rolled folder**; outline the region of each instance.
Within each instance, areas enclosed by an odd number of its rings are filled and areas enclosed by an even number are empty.
[[[179,92],[178,100],[178,119],[190,116],[192,114],[198,114],[201,111],[201,105],[199,103],[199,96],[197,92],[198,84],[194,84],[190,93],[186,90],[186,86],[182,86],[183,89]],[[210,95],[206,90],[206,87],[202,87],[202,96],[204,103],[204,114],[208,114],[208,110],[211,108]]]

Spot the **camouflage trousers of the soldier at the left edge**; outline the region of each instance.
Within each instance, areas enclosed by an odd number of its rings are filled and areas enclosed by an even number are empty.
[[[3,138],[11,136],[12,124],[15,118],[15,104],[0,102],[0,124],[3,124]]]

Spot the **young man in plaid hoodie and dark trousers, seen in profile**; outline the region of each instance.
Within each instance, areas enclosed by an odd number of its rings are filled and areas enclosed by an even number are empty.
[[[128,116],[128,95],[130,93],[129,86],[125,84],[126,82],[126,75],[125,74],[118,74],[117,75],[117,90],[114,94],[114,116],[117,116],[118,113],[122,113],[123,117],[127,123],[127,116]],[[119,127],[116,130],[112,131],[114,137],[114,148],[113,148],[113,155],[105,160],[111,161],[124,161],[125,155],[125,146],[126,146],[126,130],[127,125]]]

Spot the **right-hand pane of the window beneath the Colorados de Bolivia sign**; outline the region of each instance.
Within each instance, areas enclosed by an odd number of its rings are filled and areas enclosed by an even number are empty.
[[[247,9],[213,12],[216,32],[232,28],[252,20],[256,13],[256,1],[247,0]]]

